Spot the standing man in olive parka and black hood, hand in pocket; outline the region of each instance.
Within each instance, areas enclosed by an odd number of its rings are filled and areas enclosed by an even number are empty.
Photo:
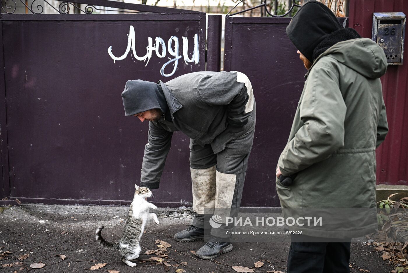
[[[320,2],[304,4],[286,33],[308,72],[278,160],[277,193],[285,217],[317,209],[329,216],[322,226],[288,227],[302,234],[291,236],[288,273],[350,272],[350,238],[377,230],[375,149],[388,132],[379,78],[387,60]]]

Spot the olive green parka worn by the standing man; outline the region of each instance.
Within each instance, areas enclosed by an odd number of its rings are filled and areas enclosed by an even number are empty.
[[[379,79],[386,69],[383,49],[368,38],[338,42],[313,62],[278,161],[283,175],[296,174],[288,187],[276,180],[286,217],[376,207],[375,149],[388,132]],[[317,237],[351,237],[350,231],[356,237],[377,229],[375,210],[353,216],[340,224],[289,229]]]

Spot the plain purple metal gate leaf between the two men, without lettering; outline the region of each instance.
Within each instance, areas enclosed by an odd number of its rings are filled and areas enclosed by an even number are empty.
[[[257,124],[243,206],[279,206],[275,167],[288,141],[306,69],[286,36],[290,18],[226,17],[224,70],[251,80]]]

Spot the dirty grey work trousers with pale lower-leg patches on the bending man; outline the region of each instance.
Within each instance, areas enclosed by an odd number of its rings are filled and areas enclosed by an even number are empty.
[[[195,215],[193,225],[206,231],[211,229],[213,236],[230,237],[228,231],[231,231],[233,225],[227,225],[226,219],[235,217],[241,204],[246,167],[254,138],[255,113],[249,119],[251,124],[240,131],[236,130],[238,132],[231,132],[232,140],[217,154],[213,153],[210,144],[202,147],[191,140],[190,167]]]

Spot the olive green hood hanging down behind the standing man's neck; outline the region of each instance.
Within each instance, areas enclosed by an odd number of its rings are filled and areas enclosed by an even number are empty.
[[[377,79],[387,71],[388,63],[384,50],[369,38],[338,42],[322,53],[315,63],[327,55],[366,78]]]

